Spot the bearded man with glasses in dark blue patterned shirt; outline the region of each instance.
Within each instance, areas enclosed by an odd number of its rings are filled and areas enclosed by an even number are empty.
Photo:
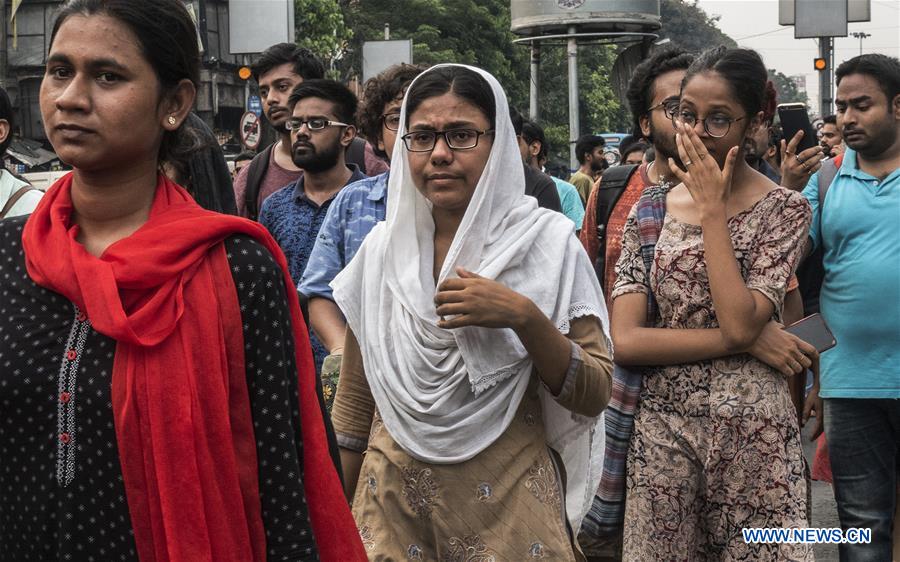
[[[292,279],[301,279],[313,245],[334,197],[347,184],[365,179],[346,150],[356,137],[356,96],[334,80],[307,80],[288,99],[291,158],[304,173],[268,197],[259,213],[262,223],[288,260]],[[328,350],[310,334],[316,372]]]

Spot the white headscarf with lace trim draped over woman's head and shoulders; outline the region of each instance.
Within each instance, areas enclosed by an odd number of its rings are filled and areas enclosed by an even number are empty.
[[[423,75],[446,66],[458,65],[434,66]],[[462,266],[534,301],[563,334],[574,318],[599,318],[609,341],[603,295],[572,222],[525,195],[522,157],[502,87],[487,72],[465,68],[491,86],[497,118],[490,157],[437,285]],[[414,90],[415,82],[407,91]],[[423,462],[459,463],[509,427],[533,364],[510,329],[437,327],[434,221],[400,140],[406,107],[404,99],[387,219],[331,286],[359,341],[372,396],[391,437]],[[604,417],[564,409],[543,385],[541,403],[547,443],[565,465],[566,512],[577,530],[600,479]]]

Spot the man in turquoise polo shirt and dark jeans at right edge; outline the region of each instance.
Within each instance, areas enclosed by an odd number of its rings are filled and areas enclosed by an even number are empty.
[[[849,150],[823,208],[818,174],[803,191],[812,244],[824,250],[820,310],[837,340],[821,356],[820,396],[841,526],[872,530],[869,544],[841,544],[841,560],[891,560],[900,482],[900,61],[863,55],[836,75]]]

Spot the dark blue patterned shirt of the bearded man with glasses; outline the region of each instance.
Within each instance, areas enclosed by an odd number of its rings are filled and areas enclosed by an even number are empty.
[[[347,182],[348,186],[366,177],[355,164],[348,164],[347,167],[353,172]],[[347,188],[344,187],[344,189]],[[338,195],[343,193],[344,189],[339,191]],[[310,200],[306,197],[303,189],[303,176],[301,176],[296,183],[282,187],[263,201],[262,209],[259,211],[259,222],[269,230],[272,237],[281,246],[288,261],[291,279],[303,277],[303,271],[309,263],[316,236],[319,234],[329,207],[336,199],[337,196],[325,201],[322,205]],[[316,372],[318,372],[322,368],[322,361],[328,355],[328,350],[316,339],[312,331],[310,331],[309,339],[316,361]]]

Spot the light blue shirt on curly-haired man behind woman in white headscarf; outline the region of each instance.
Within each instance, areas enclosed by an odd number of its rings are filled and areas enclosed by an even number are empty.
[[[329,283],[350,263],[375,224],[384,220],[389,173],[348,185],[334,198],[297,287],[303,295],[334,300]]]

